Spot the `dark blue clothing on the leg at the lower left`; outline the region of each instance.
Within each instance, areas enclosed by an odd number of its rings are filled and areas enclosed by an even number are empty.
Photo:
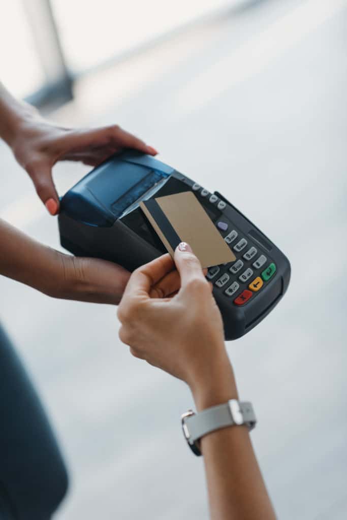
[[[48,520],[67,488],[45,412],[0,327],[0,519]]]

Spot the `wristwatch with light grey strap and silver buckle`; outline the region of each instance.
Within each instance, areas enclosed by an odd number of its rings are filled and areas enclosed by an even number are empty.
[[[225,428],[246,424],[249,430],[254,428],[256,419],[250,402],[230,399],[223,405],[212,406],[199,413],[188,410],[181,417],[182,429],[188,446],[197,456],[201,455],[200,439],[204,435]]]

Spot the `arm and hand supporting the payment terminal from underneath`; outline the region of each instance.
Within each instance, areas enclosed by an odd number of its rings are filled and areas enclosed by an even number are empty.
[[[0,275],[55,298],[115,305],[130,276],[112,262],[48,248],[1,219]]]

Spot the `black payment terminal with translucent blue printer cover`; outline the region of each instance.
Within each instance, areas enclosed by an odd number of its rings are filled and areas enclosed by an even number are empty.
[[[155,158],[136,151],[113,155],[61,199],[63,248],[133,271],[166,252],[139,203],[192,191],[236,259],[208,269],[226,340],[253,329],[285,294],[287,257],[221,193],[211,192]]]

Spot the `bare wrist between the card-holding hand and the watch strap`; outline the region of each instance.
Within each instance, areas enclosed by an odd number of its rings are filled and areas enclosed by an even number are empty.
[[[235,376],[225,347],[222,354],[216,355],[208,372],[195,378],[189,386],[197,411],[238,399]]]

